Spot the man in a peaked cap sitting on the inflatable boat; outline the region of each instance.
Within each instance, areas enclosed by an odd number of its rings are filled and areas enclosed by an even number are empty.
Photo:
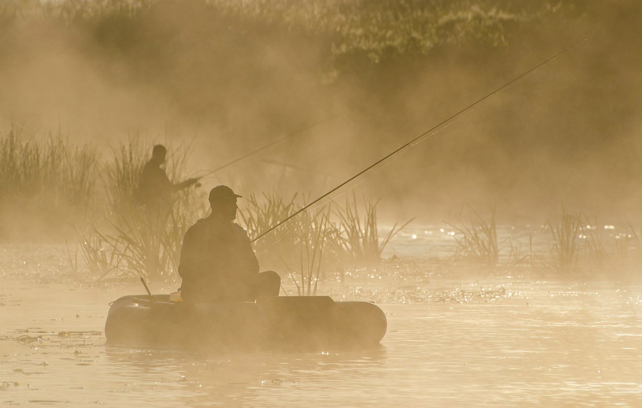
[[[211,215],[187,230],[178,266],[184,301],[253,302],[279,296],[281,277],[274,271],[259,273],[250,238],[234,222],[239,197],[228,186],[214,187],[209,193]]]

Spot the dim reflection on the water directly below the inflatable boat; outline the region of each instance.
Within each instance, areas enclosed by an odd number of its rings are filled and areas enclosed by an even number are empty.
[[[162,389],[161,400],[171,395],[177,398],[174,402],[191,406],[243,402],[248,406],[265,406],[286,401],[300,405],[310,387],[320,393],[315,398],[323,398],[323,390],[336,393],[342,383],[354,387],[356,380],[376,380],[385,353],[383,346],[347,353],[254,355],[108,348],[106,361],[121,372],[112,387],[122,386],[125,380],[128,392],[140,395],[142,400],[150,389]]]

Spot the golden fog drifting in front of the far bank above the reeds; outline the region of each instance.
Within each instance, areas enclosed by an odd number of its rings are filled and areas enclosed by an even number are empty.
[[[410,2],[398,6],[400,20],[383,14],[373,24],[363,19],[376,16],[376,7],[360,2],[150,3],[131,18],[103,12],[82,24],[50,17],[4,24],[3,129],[62,129],[100,146],[134,134],[188,141],[200,169],[343,114],[221,175],[242,177],[248,191],[316,196],[587,38],[405,152],[357,192],[386,197],[393,218],[435,220],[462,204],[546,217],[561,200],[591,213],[638,211],[634,1],[442,9]],[[422,9],[449,15],[418,17]],[[333,18],[343,24],[336,30]],[[413,28],[422,22],[428,28]],[[287,182],[262,177],[282,164]]]

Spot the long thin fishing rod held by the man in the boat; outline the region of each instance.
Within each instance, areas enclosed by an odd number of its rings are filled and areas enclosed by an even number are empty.
[[[325,193],[324,195],[322,195],[322,196],[318,197],[317,199],[315,199],[314,201],[310,202],[310,203],[309,203],[309,204],[307,204],[306,206],[302,207],[302,208],[301,208],[301,209],[299,209],[298,211],[295,211],[295,213],[293,213],[292,215],[289,215],[289,216],[288,216],[287,218],[285,218],[284,220],[279,221],[275,226],[270,227],[270,229],[268,229],[268,230],[267,230],[267,231],[265,231],[264,233],[261,233],[259,236],[257,236],[256,238],[254,238],[254,240],[252,240],[252,242],[250,242],[250,244],[254,244],[254,242],[257,242],[258,240],[260,240],[260,239],[261,239],[261,238],[263,238],[264,236],[268,235],[269,233],[271,233],[272,231],[274,231],[274,230],[275,230],[275,229],[277,229],[278,227],[281,227],[283,224],[285,224],[286,222],[290,221],[292,218],[296,217],[297,215],[299,215],[299,214],[300,214],[300,213],[302,213],[303,211],[306,211],[306,209],[310,208],[311,206],[313,206],[314,204],[316,204],[316,203],[317,203],[317,202],[319,202],[320,200],[322,200],[322,199],[324,199],[325,197],[327,197],[328,195],[331,195],[332,193],[334,193],[334,191],[339,190],[340,188],[342,188],[343,186],[345,186],[345,184],[348,184],[349,182],[351,182],[352,180],[356,179],[357,177],[359,177],[359,176],[360,176],[360,175],[362,175],[363,173],[368,172],[371,168],[373,168],[373,167],[377,166],[377,164],[379,164],[379,163],[382,163],[382,162],[386,161],[386,160],[387,160],[387,159],[389,159],[390,157],[392,157],[392,156],[394,156],[395,154],[397,154],[397,153],[401,152],[401,150],[403,150],[404,148],[407,148],[407,147],[412,146],[412,145],[413,145],[413,143],[415,143],[416,141],[418,141],[418,140],[419,140],[419,139],[421,139],[422,137],[424,137],[424,136],[428,135],[428,134],[429,134],[430,132],[432,132],[433,130],[435,130],[435,129],[437,129],[438,127],[441,127],[442,125],[446,124],[447,122],[449,122],[449,121],[451,121],[451,120],[455,119],[457,116],[460,116],[462,113],[464,113],[464,112],[466,112],[466,111],[469,111],[469,109],[472,109],[472,108],[473,108],[473,107],[475,107],[476,105],[478,105],[478,104],[482,103],[484,100],[486,100],[486,99],[487,99],[487,98],[489,98],[490,96],[492,96],[492,95],[494,95],[494,94],[498,93],[499,91],[502,91],[502,90],[503,90],[503,89],[505,89],[505,88],[510,87],[511,85],[515,84],[517,81],[521,80],[521,78],[524,78],[525,76],[528,76],[529,74],[531,74],[531,73],[533,73],[534,71],[536,71],[537,69],[539,69],[539,67],[542,67],[542,66],[544,66],[544,65],[548,64],[549,62],[551,62],[551,61],[552,61],[552,60],[554,60],[555,58],[557,58],[557,57],[559,57],[560,55],[562,55],[562,54],[566,53],[566,51],[569,51],[569,49],[571,49],[571,48],[573,48],[573,47],[575,47],[575,46],[578,46],[579,44],[581,44],[582,42],[584,42],[584,41],[586,41],[586,40],[587,40],[587,39],[580,40],[580,41],[576,42],[575,44],[573,44],[572,46],[569,46],[568,48],[563,49],[563,50],[562,50],[562,51],[560,51],[559,53],[557,53],[557,54],[553,55],[553,57],[550,57],[550,58],[548,58],[547,60],[545,60],[544,62],[541,62],[540,64],[537,64],[537,66],[532,67],[531,69],[529,69],[529,70],[528,70],[528,71],[526,71],[525,73],[523,73],[523,74],[521,74],[521,75],[519,75],[519,76],[516,76],[516,78],[514,78],[514,79],[510,80],[509,82],[507,82],[507,83],[506,83],[506,84],[504,84],[504,85],[501,85],[501,87],[498,87],[497,89],[495,89],[494,91],[490,92],[489,94],[486,94],[486,95],[485,95],[485,96],[483,96],[482,98],[480,98],[480,99],[476,100],[475,102],[471,103],[470,105],[468,105],[467,107],[465,107],[465,108],[464,108],[464,109],[462,109],[461,111],[457,112],[457,113],[456,113],[456,114],[454,114],[453,116],[450,116],[450,117],[449,117],[449,118],[447,118],[446,120],[443,120],[443,121],[441,121],[440,123],[438,123],[437,125],[435,125],[435,126],[431,127],[430,129],[426,130],[426,132],[423,132],[422,134],[420,134],[419,136],[415,137],[414,139],[412,139],[412,140],[411,140],[411,141],[409,141],[408,143],[405,143],[403,146],[401,146],[401,147],[397,148],[396,150],[394,150],[394,151],[393,151],[393,152],[391,152],[390,154],[387,154],[387,155],[385,155],[384,157],[382,157],[381,159],[377,160],[376,162],[374,162],[374,163],[370,164],[370,166],[368,166],[368,167],[366,167],[365,169],[361,170],[360,172],[356,173],[355,175],[353,175],[352,177],[350,177],[350,178],[349,178],[349,179],[347,179],[346,181],[344,181],[344,182],[342,182],[341,184],[339,184],[338,186],[334,187],[332,190],[327,191],[327,193]]]

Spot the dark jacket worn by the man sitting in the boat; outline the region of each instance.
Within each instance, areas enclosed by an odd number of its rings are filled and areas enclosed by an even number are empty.
[[[187,230],[178,274],[185,301],[252,301],[259,262],[245,229],[210,216]]]

